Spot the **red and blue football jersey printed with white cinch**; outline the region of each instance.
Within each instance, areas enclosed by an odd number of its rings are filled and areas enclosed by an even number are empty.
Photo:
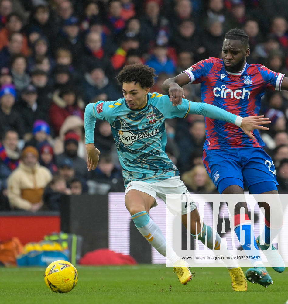
[[[189,76],[189,83],[201,82],[202,102],[216,105],[238,116],[259,115],[261,97],[266,88],[280,90],[285,75],[269,70],[261,64],[247,64],[242,71],[225,70],[222,59],[210,57],[182,73]],[[264,142],[258,130],[252,140],[241,128],[224,121],[205,118],[206,142],[204,149],[237,147],[262,147]]]

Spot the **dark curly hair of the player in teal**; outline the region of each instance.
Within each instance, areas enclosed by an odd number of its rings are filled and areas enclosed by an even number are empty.
[[[151,88],[154,85],[155,70],[148,65],[129,64],[123,67],[116,77],[120,85],[123,82],[138,82],[142,88]]]

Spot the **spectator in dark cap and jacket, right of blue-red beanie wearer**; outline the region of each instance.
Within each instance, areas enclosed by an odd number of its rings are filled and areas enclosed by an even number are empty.
[[[46,108],[38,102],[38,93],[33,85],[28,85],[21,91],[17,110],[24,120],[24,133],[32,133],[36,120],[45,120]]]

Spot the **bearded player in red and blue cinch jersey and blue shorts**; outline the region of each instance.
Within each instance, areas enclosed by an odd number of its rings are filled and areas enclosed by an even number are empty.
[[[181,88],[183,85],[201,83],[202,102],[243,117],[259,115],[265,89],[288,90],[288,78],[261,64],[247,64],[246,57],[249,53],[246,33],[241,29],[231,29],[225,34],[222,59],[210,57],[194,64],[178,76],[164,81],[163,89],[169,92],[173,105],[178,105],[184,97]],[[274,164],[262,149],[265,144],[258,130],[253,131],[254,139],[251,139],[230,123],[207,117],[205,122],[207,140],[204,144],[203,163],[220,193],[244,194],[244,186],[247,186],[252,194],[278,194]],[[259,203],[259,206],[264,204]],[[247,204],[242,202],[239,209],[235,210],[235,233],[239,240],[241,207],[245,208],[245,224],[253,229]],[[270,229],[270,218],[267,216],[264,231],[268,233],[265,233],[264,245],[260,245],[259,237],[254,240],[255,248],[251,246],[251,255],[257,255],[257,244],[261,250],[269,247],[270,232],[273,240],[272,235],[275,237],[280,228],[279,225]],[[250,235],[248,230],[247,233]],[[243,249],[250,250],[250,246]],[[280,256],[278,259],[282,261]],[[253,266],[246,271],[249,281],[265,287],[273,283],[261,261]],[[273,269],[283,272],[285,268]]]

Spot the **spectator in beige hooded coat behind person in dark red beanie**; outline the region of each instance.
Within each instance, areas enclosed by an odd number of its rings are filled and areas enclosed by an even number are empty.
[[[87,153],[85,149],[85,139],[84,139],[84,121],[79,116],[71,115],[68,116],[64,123],[62,124],[59,136],[55,138],[54,141],[54,152],[56,155],[61,154],[64,152],[64,140],[65,134],[68,132],[74,132],[79,137],[80,140],[78,142],[78,156],[83,158],[84,160],[87,159]]]

